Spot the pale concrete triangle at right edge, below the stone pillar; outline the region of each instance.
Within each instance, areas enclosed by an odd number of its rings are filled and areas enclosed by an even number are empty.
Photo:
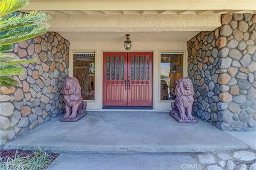
[[[256,132],[226,132],[256,150]]]

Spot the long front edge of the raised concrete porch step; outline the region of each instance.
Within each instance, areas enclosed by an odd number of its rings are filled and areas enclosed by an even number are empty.
[[[169,146],[134,146],[134,145],[5,145],[4,149],[34,150],[40,147],[44,150],[56,152],[79,152],[79,153],[177,153],[177,152],[218,152],[225,150],[247,149],[248,146],[210,146],[210,145],[169,145]]]

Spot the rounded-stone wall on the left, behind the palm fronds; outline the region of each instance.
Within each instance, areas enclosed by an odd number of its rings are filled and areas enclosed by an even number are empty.
[[[69,41],[46,32],[14,45],[11,53],[15,58],[36,58],[37,62],[23,65],[26,74],[14,77],[19,87],[1,88],[1,145],[65,109],[61,88],[68,76]]]

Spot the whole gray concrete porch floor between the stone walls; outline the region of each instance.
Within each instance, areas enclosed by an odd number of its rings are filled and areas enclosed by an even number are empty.
[[[243,142],[197,120],[180,124],[168,112],[89,112],[79,122],[47,122],[4,148],[77,152],[213,152]]]

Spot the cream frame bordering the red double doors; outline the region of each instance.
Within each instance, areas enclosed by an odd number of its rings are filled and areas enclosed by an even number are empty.
[[[102,109],[106,109],[105,107],[108,107],[108,106],[103,106],[103,91],[104,91],[104,86],[103,86],[103,75],[104,75],[104,69],[103,69],[103,54],[104,53],[151,53],[152,54],[152,69],[151,69],[151,77],[152,77],[152,82],[151,82],[151,96],[152,96],[152,105],[151,106],[124,106],[122,107],[121,109],[132,109],[134,107],[134,109],[137,107],[138,109],[141,107],[141,109],[145,108],[145,109],[154,109],[154,106],[155,106],[155,101],[154,101],[154,55],[157,54],[155,52],[154,49],[151,49],[151,50],[101,50],[101,83],[102,83],[102,86],[101,86],[101,96],[102,96],[102,99],[101,99],[101,108]],[[127,55],[128,57],[128,55]],[[119,106],[109,106],[109,107],[119,107]],[[148,107],[148,108],[147,108]],[[113,109],[113,108],[112,108]],[[119,108],[118,108],[119,109]]]

